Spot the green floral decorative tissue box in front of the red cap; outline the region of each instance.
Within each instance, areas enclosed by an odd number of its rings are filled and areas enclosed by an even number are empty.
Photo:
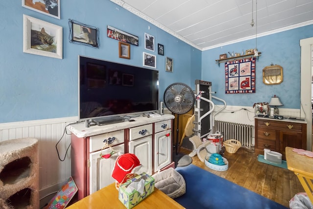
[[[142,193],[135,189],[132,190],[128,188],[129,186],[132,188],[134,184],[136,183],[139,184],[139,182],[144,182]],[[155,179],[146,173],[141,173],[135,178],[119,186],[118,199],[124,204],[124,206],[127,209],[131,209],[135,205],[137,205],[141,200],[143,200],[149,194],[151,194],[154,190],[155,190]]]

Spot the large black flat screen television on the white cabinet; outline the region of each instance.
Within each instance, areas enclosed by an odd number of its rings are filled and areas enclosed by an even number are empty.
[[[156,112],[158,70],[78,56],[80,121]]]

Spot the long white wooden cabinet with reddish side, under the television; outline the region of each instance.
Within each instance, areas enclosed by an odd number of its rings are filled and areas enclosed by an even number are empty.
[[[134,153],[142,167],[137,172],[153,174],[172,163],[172,120],[173,115],[134,117],[135,121],[85,127],[85,122],[72,124],[71,175],[78,187],[77,198],[87,195],[114,182],[112,169],[117,155],[109,159],[100,156],[103,141],[110,141],[112,149]],[[102,154],[110,153],[110,148]]]

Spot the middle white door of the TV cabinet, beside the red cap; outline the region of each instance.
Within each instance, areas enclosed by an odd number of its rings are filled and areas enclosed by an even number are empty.
[[[152,175],[152,136],[130,141],[129,153],[136,155],[142,165],[137,174],[145,172]]]

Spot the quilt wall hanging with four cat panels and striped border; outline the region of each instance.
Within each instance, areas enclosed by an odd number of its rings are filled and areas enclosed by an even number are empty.
[[[255,93],[255,57],[225,63],[225,93]]]

